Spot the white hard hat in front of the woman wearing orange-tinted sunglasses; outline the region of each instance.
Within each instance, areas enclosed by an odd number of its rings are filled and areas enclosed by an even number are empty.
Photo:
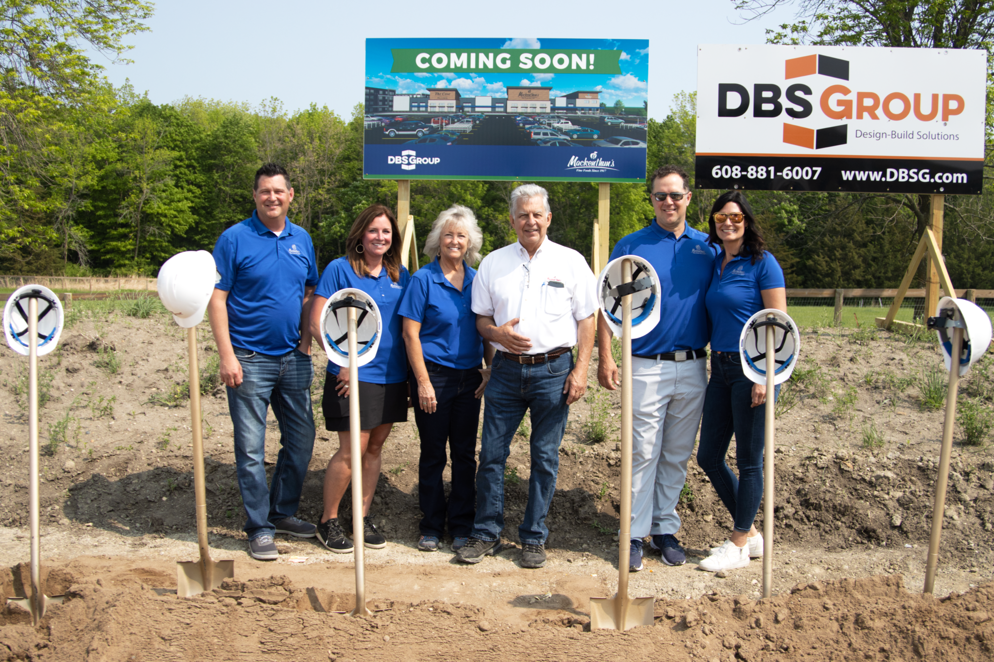
[[[801,336],[790,316],[775,308],[759,311],[745,323],[739,336],[739,357],[745,376],[756,384],[766,383],[766,327],[773,328],[773,383],[790,378],[797,365]]]

